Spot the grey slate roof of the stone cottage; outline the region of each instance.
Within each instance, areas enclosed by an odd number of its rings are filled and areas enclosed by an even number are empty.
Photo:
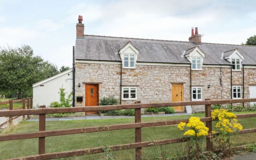
[[[118,51],[129,41],[139,50],[137,62],[190,64],[181,55],[184,50],[196,46],[193,42],[184,41],[84,35],[84,39],[76,39],[75,58],[120,62]],[[237,48],[244,56],[243,64],[256,65],[256,46],[202,43],[198,47],[205,52],[204,64],[230,65],[221,59],[222,52]]]

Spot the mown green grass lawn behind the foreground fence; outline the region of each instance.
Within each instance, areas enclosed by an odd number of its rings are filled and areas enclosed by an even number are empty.
[[[255,112],[237,112],[236,114],[255,113]],[[204,117],[204,114],[193,114],[193,116]],[[142,118],[143,122],[164,121],[187,119],[190,116],[169,116],[169,117],[150,117]],[[88,126],[104,126],[111,124],[133,123],[133,118],[105,119],[105,120],[72,120],[72,121],[47,121],[46,130],[80,128]],[[256,118],[239,119],[244,129],[256,128]],[[214,124],[213,124],[214,125]],[[38,122],[21,122],[10,133],[37,132]],[[182,132],[176,126],[161,126],[142,128],[142,141],[162,140],[182,137]],[[46,153],[60,152],[67,150],[77,150],[82,148],[91,148],[99,146],[108,146],[115,144],[126,144],[135,142],[134,129],[114,130],[106,132],[94,132],[85,134],[73,134],[65,136],[46,137]],[[251,144],[256,142],[256,134],[243,134],[236,138],[236,144]],[[160,154],[172,155],[177,151],[183,150],[185,143],[168,144],[163,146],[146,147],[142,149],[143,158],[146,160],[155,160]],[[28,156],[38,153],[38,138],[26,140],[13,140],[0,142],[0,159]],[[118,160],[130,160],[135,157],[135,149],[121,150],[109,153],[116,156]],[[64,160],[104,160],[104,154],[92,154],[86,156],[77,156],[62,158]]]

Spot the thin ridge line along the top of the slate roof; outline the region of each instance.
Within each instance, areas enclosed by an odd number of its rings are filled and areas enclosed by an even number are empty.
[[[165,41],[165,42],[188,42],[194,43],[189,41],[182,41],[182,40],[160,40],[160,39],[150,39],[150,38],[132,38],[132,37],[118,37],[118,36],[101,36],[101,35],[94,35],[94,34],[84,34],[84,36],[95,36],[95,37],[109,37],[109,38],[125,38],[125,39],[136,39],[136,40],[156,40],[156,41]],[[210,42],[202,42],[201,44],[220,44],[220,45],[230,45],[230,46],[248,46],[248,47],[256,47],[250,45],[241,45],[241,44],[226,44],[226,43],[210,43]]]

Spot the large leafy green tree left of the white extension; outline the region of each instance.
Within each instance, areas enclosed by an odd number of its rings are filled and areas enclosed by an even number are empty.
[[[32,93],[32,84],[58,73],[57,66],[35,56],[30,46],[0,48],[0,90]],[[4,94],[4,92],[3,92]],[[27,95],[30,96],[30,95]]]

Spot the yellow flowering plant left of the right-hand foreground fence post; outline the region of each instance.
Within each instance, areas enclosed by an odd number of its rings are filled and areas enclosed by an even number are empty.
[[[198,117],[190,117],[188,123],[180,122],[178,129],[183,131],[183,135],[189,137],[186,143],[186,156],[188,160],[198,160],[204,157],[203,140],[208,135],[209,128]]]

